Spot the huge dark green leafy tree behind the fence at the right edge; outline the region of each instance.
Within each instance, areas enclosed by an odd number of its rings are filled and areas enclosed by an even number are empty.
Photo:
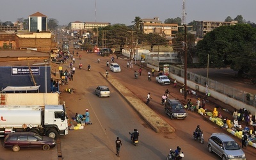
[[[256,76],[256,29],[249,24],[221,26],[204,36],[204,40],[196,45],[200,63],[207,64],[207,54],[210,55],[211,67],[225,67]]]

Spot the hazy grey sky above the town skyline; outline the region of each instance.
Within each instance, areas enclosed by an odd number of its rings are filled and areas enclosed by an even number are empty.
[[[95,5],[96,4],[96,5]],[[256,0],[186,0],[186,23],[193,20],[224,21],[227,16],[242,15],[256,23]],[[96,10],[96,12],[95,12]],[[159,20],[182,17],[182,0],[13,0],[0,5],[0,20],[15,22],[18,18],[40,12],[60,25],[81,22],[110,22],[131,25],[134,17]]]

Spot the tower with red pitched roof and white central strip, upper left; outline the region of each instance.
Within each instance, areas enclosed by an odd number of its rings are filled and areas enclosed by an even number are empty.
[[[47,16],[40,12],[29,15],[29,31],[47,31]]]

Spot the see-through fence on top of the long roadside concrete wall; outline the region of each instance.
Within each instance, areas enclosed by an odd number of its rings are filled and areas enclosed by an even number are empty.
[[[177,76],[184,77],[184,68],[170,66],[170,72]],[[189,71],[187,72],[187,80],[193,81],[202,86],[206,86],[207,83],[207,77],[200,76]],[[240,100],[241,102],[244,102],[250,106],[256,107],[256,95],[252,93],[237,90],[237,88],[219,83],[218,81],[214,81],[212,79],[208,79],[208,88],[211,88],[216,92],[220,92],[223,95],[227,95],[228,97],[232,97],[233,99]]]

